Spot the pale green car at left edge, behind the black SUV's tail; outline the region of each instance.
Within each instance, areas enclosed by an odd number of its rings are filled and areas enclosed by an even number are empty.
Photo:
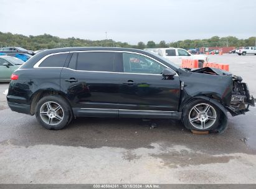
[[[0,81],[10,81],[12,73],[24,62],[16,57],[0,56]]]

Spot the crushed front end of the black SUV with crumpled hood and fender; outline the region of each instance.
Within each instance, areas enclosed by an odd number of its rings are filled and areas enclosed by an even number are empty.
[[[249,106],[255,106],[254,97],[250,95],[247,84],[242,82],[240,76],[209,67],[186,70],[189,76],[181,77],[184,82],[184,106],[194,98],[215,104],[221,112],[219,126],[215,131],[223,132],[226,129],[227,111],[232,116],[237,116],[249,111]]]

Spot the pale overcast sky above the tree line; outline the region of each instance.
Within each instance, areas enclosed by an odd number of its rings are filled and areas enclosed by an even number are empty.
[[[255,0],[0,0],[0,31],[137,44],[256,36]]]

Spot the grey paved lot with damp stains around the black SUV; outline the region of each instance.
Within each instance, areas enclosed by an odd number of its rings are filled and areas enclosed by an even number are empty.
[[[256,96],[256,56],[229,63]],[[0,84],[0,183],[256,183],[256,108],[229,115],[223,134],[196,135],[178,121],[80,118],[48,131],[12,112]]]

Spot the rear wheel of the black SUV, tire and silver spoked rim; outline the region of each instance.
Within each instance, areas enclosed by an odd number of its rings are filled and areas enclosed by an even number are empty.
[[[73,118],[69,103],[60,95],[44,96],[36,105],[37,121],[46,129],[59,130]]]

